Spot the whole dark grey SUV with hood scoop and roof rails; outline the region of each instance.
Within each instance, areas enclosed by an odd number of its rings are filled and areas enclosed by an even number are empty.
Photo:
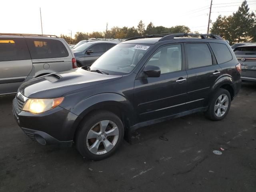
[[[194,35],[202,38],[188,38]],[[129,136],[142,126],[195,112],[222,120],[240,90],[240,72],[220,36],[130,38],[90,68],[23,83],[14,117],[40,144],[74,142],[82,156],[101,160],[117,150],[124,132]]]

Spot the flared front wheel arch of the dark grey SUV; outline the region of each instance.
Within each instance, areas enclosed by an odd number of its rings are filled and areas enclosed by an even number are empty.
[[[107,110],[106,106],[118,107],[125,116],[125,119],[128,119],[131,125],[134,124],[135,117],[132,103],[125,96],[112,92],[90,96],[76,104],[70,112],[82,119],[92,110]]]

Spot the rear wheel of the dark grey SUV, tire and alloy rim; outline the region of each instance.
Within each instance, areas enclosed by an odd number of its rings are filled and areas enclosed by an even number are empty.
[[[206,117],[219,121],[226,117],[231,104],[231,96],[228,90],[220,88],[212,97]]]

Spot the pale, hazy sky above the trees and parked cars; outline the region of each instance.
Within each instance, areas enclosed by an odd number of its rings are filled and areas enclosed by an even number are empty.
[[[2,0],[0,33],[41,34],[40,8],[44,34],[72,38],[76,32],[106,30],[113,26],[188,26],[192,32],[207,32],[210,0]],[[213,0],[211,20],[219,14],[231,15],[242,0]],[[256,10],[256,0],[248,0]]]

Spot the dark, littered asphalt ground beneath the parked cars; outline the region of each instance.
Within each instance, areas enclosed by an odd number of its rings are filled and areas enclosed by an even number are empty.
[[[12,98],[0,98],[0,192],[256,191],[256,84],[242,84],[220,122],[198,113],[140,128],[97,162],[30,140]]]

